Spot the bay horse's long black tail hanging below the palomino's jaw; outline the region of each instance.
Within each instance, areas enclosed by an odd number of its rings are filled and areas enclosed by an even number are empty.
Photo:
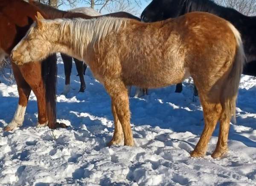
[[[45,84],[46,112],[50,129],[57,128],[56,122],[56,87],[57,57],[52,54],[42,62],[42,74]]]

